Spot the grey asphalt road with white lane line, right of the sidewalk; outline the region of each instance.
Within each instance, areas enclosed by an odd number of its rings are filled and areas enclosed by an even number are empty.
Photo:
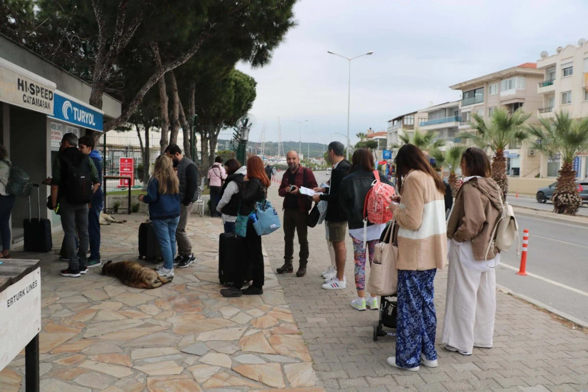
[[[278,173],[282,177],[282,173]],[[325,171],[315,172],[317,182],[325,182]],[[552,210],[530,197],[508,197],[517,206]],[[582,207],[579,215],[588,215]],[[539,301],[588,323],[588,227],[554,222],[547,217],[519,215],[521,242],[523,230],[529,230],[527,276],[516,274],[520,256],[516,249],[503,253],[496,270],[496,282],[512,292]],[[312,251],[312,250],[311,250]],[[348,256],[349,258],[350,256]]]

